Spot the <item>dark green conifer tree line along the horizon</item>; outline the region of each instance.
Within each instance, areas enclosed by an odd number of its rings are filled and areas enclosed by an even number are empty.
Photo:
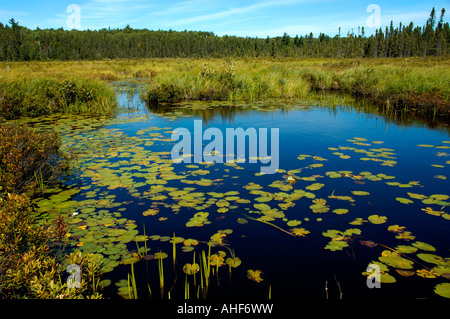
[[[100,30],[28,29],[10,19],[0,22],[0,61],[96,60],[166,57],[413,57],[450,53],[450,26],[445,9],[437,19],[433,8],[426,25],[400,23],[366,36],[357,33],[334,37],[313,33],[295,37],[252,38],[218,36],[202,31],[163,31],[104,28]]]

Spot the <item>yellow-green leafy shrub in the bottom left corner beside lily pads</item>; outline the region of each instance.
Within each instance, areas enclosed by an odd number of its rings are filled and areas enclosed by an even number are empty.
[[[6,298],[100,298],[96,280],[100,268],[91,256],[72,253],[59,258],[66,228],[60,219],[40,225],[25,194],[0,198],[0,293]],[[61,279],[67,264],[81,269],[81,287]]]

